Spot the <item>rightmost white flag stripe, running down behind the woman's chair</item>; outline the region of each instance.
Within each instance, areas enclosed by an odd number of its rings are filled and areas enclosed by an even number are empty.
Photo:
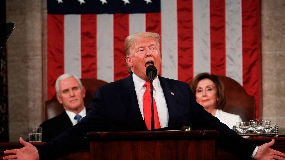
[[[226,0],[226,76],[242,85],[241,1]]]

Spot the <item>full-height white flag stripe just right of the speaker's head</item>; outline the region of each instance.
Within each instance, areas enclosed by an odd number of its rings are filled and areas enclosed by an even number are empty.
[[[162,76],[178,79],[177,62],[177,3],[161,1]]]

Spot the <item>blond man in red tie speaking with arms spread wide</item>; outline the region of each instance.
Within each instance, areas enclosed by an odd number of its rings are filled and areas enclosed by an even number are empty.
[[[161,66],[160,35],[142,32],[125,40],[127,78],[97,89],[86,117],[55,139],[37,148],[20,138],[23,148],[5,151],[3,159],[52,159],[63,157],[84,142],[88,132],[150,130],[150,82],[146,68]],[[157,74],[158,75],[158,74]],[[284,159],[285,154],[269,147],[274,140],[257,147],[221,123],[200,106],[187,83],[154,77],[155,128],[191,123],[194,130],[217,130],[217,145],[242,159]]]

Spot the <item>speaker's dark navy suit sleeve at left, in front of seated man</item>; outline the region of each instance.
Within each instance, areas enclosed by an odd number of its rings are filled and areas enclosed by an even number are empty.
[[[62,132],[59,136],[44,145],[37,146],[40,159],[56,159],[69,155],[85,145],[88,132],[103,131],[105,126],[105,107],[103,96],[98,88],[86,117],[79,124]]]

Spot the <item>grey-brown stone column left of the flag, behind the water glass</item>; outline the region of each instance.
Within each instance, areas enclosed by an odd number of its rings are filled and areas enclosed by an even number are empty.
[[[6,1],[7,22],[15,29],[7,42],[10,141],[28,138],[42,120],[43,8],[45,1]]]

